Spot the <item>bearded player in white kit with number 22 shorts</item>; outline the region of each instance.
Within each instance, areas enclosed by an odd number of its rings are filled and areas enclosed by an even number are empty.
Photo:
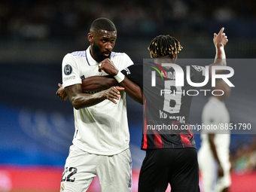
[[[68,53],[62,61],[62,86],[74,106],[75,135],[62,174],[60,191],[87,191],[95,176],[101,190],[131,191],[130,133],[123,89],[111,87],[97,93],[82,92],[82,79],[99,72],[109,58],[117,69],[133,65],[126,53],[114,53],[117,30],[106,18],[94,20],[88,33],[90,47]],[[124,75],[116,75],[117,82]]]

